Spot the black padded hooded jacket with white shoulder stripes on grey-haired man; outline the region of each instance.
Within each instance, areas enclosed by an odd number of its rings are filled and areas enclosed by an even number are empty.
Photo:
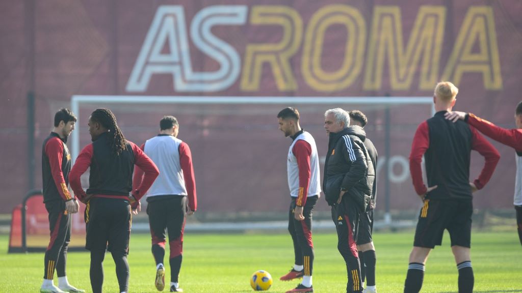
[[[328,205],[335,205],[340,189],[345,188],[343,200],[351,198],[362,211],[366,210],[372,196],[375,169],[364,146],[365,139],[366,132],[357,125],[330,133],[323,179]]]

